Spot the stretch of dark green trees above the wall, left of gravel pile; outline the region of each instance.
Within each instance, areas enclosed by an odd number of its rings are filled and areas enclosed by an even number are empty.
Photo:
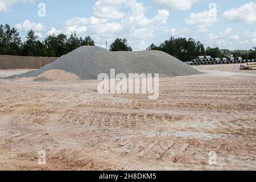
[[[95,46],[90,36],[78,38],[76,33],[48,35],[43,41],[32,30],[27,32],[22,42],[16,28],[9,24],[0,25],[0,55],[60,57],[80,46]]]

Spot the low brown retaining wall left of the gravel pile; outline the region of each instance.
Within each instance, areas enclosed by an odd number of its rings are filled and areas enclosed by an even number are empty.
[[[39,69],[57,58],[0,55],[0,69]]]

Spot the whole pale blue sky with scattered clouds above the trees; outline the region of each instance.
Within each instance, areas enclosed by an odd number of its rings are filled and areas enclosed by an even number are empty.
[[[38,15],[39,3],[46,15]],[[42,7],[42,6],[41,6]],[[234,0],[0,0],[0,23],[49,34],[90,35],[97,46],[127,38],[134,50],[159,45],[171,36],[194,38],[205,46],[250,49],[256,46],[256,2]]]

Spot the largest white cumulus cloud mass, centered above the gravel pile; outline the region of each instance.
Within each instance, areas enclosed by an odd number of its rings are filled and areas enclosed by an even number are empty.
[[[126,13],[122,13],[123,10]],[[143,49],[145,40],[154,36],[154,29],[167,23],[169,12],[158,10],[152,18],[145,14],[146,8],[137,0],[98,0],[93,6],[92,16],[67,20],[64,32],[96,36],[98,42],[112,42],[118,36],[125,37],[135,50]]]

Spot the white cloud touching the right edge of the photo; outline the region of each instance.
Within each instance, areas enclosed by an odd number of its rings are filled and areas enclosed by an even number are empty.
[[[248,24],[256,22],[256,3],[249,2],[245,5],[225,11],[223,14],[230,22],[246,22]]]

